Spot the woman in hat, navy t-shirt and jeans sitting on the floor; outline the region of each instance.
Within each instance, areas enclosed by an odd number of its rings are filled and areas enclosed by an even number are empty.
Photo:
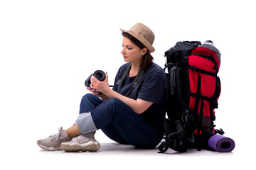
[[[159,144],[164,135],[166,78],[164,70],[152,62],[154,33],[136,23],[130,30],[122,30],[122,35],[121,53],[127,63],[119,68],[114,87],[110,89],[107,74],[104,81],[92,76],[87,87],[92,94],[82,97],[75,124],[38,140],[39,147],[97,151],[100,143],[94,134],[99,129],[121,144],[141,148]]]

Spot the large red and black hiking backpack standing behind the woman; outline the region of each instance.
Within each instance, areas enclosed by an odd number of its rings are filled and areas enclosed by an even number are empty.
[[[188,148],[210,149],[208,139],[223,130],[215,130],[215,108],[220,96],[220,51],[208,40],[177,42],[165,52],[168,118],[165,142],[160,152],[170,147],[178,152]]]

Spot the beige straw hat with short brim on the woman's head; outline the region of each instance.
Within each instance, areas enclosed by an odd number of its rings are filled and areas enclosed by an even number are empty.
[[[154,33],[147,26],[142,23],[136,23],[129,30],[122,30],[122,32],[134,36],[134,38],[137,38],[137,40],[142,42],[150,52],[154,52],[154,47],[152,46],[154,42]]]

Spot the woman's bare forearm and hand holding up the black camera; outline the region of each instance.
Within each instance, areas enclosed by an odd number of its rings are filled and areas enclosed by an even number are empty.
[[[122,94],[118,94],[116,91],[113,91],[112,89],[110,89],[110,86],[108,84],[107,74],[106,74],[106,79],[104,81],[99,81],[92,76],[91,82],[92,82],[91,89],[97,89],[97,91],[101,91],[103,93],[101,95],[105,95],[105,98],[118,98],[119,100],[126,103],[127,106],[132,108],[132,110],[137,114],[143,113],[144,111],[146,111],[146,109],[148,109],[153,104],[153,102],[144,101],[139,98],[137,100],[134,100],[132,98],[123,96]]]

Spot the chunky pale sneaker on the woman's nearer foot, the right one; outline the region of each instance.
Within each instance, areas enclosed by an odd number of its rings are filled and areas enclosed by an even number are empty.
[[[95,140],[94,135],[88,133],[74,137],[70,142],[61,143],[61,148],[67,152],[96,152],[100,149],[100,143]]]

